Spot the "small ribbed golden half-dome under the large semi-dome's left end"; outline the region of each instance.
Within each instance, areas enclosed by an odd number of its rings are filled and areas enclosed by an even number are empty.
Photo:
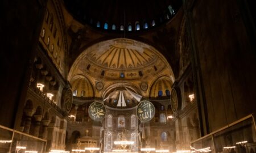
[[[83,75],[76,75],[71,79],[73,96],[94,97],[92,83]]]

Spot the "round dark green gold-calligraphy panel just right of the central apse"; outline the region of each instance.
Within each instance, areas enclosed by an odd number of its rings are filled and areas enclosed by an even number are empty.
[[[136,114],[141,122],[148,122],[155,116],[155,107],[150,101],[141,101],[138,104]]]

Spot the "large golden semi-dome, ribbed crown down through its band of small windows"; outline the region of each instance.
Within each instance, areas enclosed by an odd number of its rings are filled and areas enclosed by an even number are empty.
[[[141,79],[170,68],[162,54],[147,44],[130,39],[114,39],[90,46],[72,67],[93,77],[106,79]],[[170,68],[171,69],[171,68]],[[172,72],[168,72],[172,75]]]

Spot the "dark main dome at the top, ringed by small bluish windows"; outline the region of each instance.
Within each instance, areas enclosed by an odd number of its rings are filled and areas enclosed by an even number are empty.
[[[168,22],[182,5],[180,0],[64,0],[64,3],[74,18],[83,24],[107,31],[122,31],[123,25],[125,31],[131,32]]]

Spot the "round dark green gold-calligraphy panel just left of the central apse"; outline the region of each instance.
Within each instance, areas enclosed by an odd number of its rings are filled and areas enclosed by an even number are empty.
[[[104,104],[95,101],[92,104],[90,104],[88,113],[92,120],[101,121],[105,118],[106,108]]]

